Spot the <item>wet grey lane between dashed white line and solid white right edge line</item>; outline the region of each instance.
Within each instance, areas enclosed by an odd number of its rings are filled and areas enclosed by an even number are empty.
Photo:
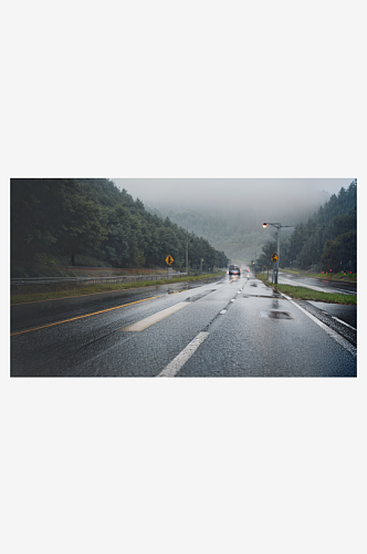
[[[355,359],[285,299],[240,297],[211,331],[179,377],[356,376]]]

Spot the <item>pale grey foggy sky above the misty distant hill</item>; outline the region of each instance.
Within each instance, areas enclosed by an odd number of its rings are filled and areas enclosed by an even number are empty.
[[[322,191],[337,194],[350,178],[112,178],[114,183],[149,207],[174,211],[258,211],[260,219],[312,207]]]

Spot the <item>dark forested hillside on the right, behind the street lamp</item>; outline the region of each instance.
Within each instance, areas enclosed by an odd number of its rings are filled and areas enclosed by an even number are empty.
[[[276,252],[276,240],[263,247],[258,259],[269,266]],[[292,235],[281,240],[281,267],[297,267],[338,273],[357,270],[357,181],[331,199],[308,218],[296,225]]]

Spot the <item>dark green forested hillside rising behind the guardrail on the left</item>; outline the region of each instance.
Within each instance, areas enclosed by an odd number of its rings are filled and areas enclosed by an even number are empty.
[[[105,178],[11,179],[12,275],[34,275],[34,263],[92,259],[109,267],[185,270],[186,230],[148,213],[127,191]],[[226,267],[228,258],[208,240],[190,237],[189,266]]]

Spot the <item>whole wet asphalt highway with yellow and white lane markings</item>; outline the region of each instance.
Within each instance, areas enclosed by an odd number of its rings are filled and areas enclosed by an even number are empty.
[[[356,331],[343,324],[337,308],[342,322],[311,302],[276,297],[245,276],[169,293],[151,287],[13,307],[11,376],[357,375]],[[171,308],[180,309],[143,330],[125,330]],[[324,327],[315,322],[318,317]]]

